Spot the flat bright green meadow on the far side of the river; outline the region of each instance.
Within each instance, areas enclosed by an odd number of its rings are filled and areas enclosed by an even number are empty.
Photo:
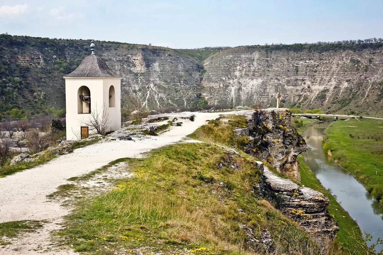
[[[363,185],[383,184],[383,121],[359,120],[333,122],[323,147]]]

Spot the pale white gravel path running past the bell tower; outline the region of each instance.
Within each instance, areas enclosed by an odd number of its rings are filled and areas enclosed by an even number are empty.
[[[70,177],[85,174],[109,162],[119,158],[135,158],[141,153],[176,143],[192,133],[196,128],[204,125],[206,120],[215,119],[224,113],[196,112],[195,121],[182,120],[181,127],[171,127],[170,131],[159,136],[147,136],[137,141],[109,141],[100,142],[83,148],[75,149],[73,153],[59,156],[48,163],[28,169],[23,172],[0,178],[0,223],[20,220],[51,220],[60,221],[60,218],[69,213],[68,209],[60,206],[60,203],[49,201],[46,195],[55,192],[56,187],[67,183]],[[59,228],[60,225],[57,225]],[[50,232],[57,229],[49,225],[50,231],[37,242],[49,245]],[[43,229],[44,231],[44,229]],[[29,237],[32,234],[28,234]],[[41,235],[40,235],[41,236]],[[28,253],[23,253],[24,247],[30,245],[28,236],[20,239],[23,247],[16,247],[17,251],[11,250],[18,245],[0,247],[1,254],[37,254],[29,247]],[[23,243],[24,242],[24,243]],[[36,247],[41,247],[36,244]],[[25,252],[26,250],[24,250]],[[41,252],[41,251],[40,251]],[[69,254],[64,252],[52,254]],[[70,254],[72,254],[70,252]]]

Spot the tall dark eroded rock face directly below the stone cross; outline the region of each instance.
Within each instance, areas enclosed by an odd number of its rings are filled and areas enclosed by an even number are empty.
[[[270,163],[277,171],[300,181],[297,156],[308,150],[306,141],[290,126],[291,110],[269,108],[242,111],[247,118],[247,129],[251,143],[247,153],[254,153],[258,158]],[[237,130],[237,133],[244,133]]]

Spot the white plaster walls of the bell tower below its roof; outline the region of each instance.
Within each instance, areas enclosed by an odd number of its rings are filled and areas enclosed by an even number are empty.
[[[113,85],[116,93],[115,107],[109,106],[109,87]],[[80,127],[83,122],[88,122],[90,114],[78,114],[77,91],[81,86],[87,86],[90,90],[90,110],[98,109],[102,113],[103,107],[107,108],[111,124],[109,131],[121,128],[121,79],[120,78],[65,78],[65,102],[66,102],[66,133],[67,140],[80,139]],[[105,102],[105,103],[104,103]],[[92,132],[89,132],[92,135]]]

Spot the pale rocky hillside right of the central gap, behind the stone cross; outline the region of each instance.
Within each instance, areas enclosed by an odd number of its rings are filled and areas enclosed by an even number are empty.
[[[383,109],[382,43],[243,46],[207,58],[202,84],[210,104],[275,105],[326,112]]]

